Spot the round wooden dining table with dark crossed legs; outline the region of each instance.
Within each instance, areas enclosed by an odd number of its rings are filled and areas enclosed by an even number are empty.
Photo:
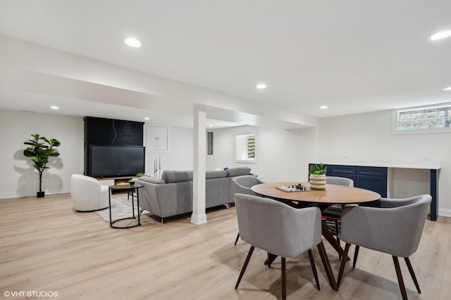
[[[365,190],[363,188],[326,184],[326,188],[324,190],[313,190],[310,188],[309,183],[300,184],[303,188],[305,188],[305,190],[288,192],[280,189],[282,187],[299,185],[299,183],[295,182],[261,183],[252,186],[251,189],[257,195],[278,200],[292,207],[303,208],[315,205],[316,207],[319,207],[321,211],[324,211],[332,204],[359,204],[364,202],[372,202],[381,198],[381,195],[378,193],[371,190]],[[338,254],[342,256],[343,249],[340,246],[340,243],[335,240],[335,237],[333,237],[333,234],[330,233],[324,222],[321,222],[321,233],[338,252]],[[324,250],[319,248],[319,251]],[[271,264],[271,261],[274,259],[276,259],[276,256],[271,256],[271,254],[268,254],[269,264]],[[323,261],[323,265],[324,268],[326,268],[326,274],[328,276],[330,286],[337,290],[338,287],[332,273],[332,268],[330,268],[329,261]]]

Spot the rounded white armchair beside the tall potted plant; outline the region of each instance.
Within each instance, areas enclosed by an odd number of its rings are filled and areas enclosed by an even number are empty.
[[[70,178],[70,196],[78,211],[95,211],[109,207],[108,186],[95,178],[73,174]]]

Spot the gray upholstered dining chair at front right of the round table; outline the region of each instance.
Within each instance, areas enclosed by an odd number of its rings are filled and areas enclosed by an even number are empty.
[[[409,256],[418,249],[431,199],[431,195],[405,199],[381,198],[380,207],[345,207],[342,212],[340,235],[346,245],[337,284],[340,285],[342,279],[350,244],[355,244],[352,268],[357,262],[360,246],[391,254],[402,299],[407,299],[398,261],[398,257],[404,257],[416,290],[421,293]]]

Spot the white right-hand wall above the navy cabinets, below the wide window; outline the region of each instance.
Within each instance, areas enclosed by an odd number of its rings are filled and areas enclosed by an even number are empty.
[[[391,111],[320,120],[318,160],[322,162],[428,164],[441,161],[439,214],[451,216],[451,133],[391,134]],[[393,197],[430,193],[428,170],[393,169]]]

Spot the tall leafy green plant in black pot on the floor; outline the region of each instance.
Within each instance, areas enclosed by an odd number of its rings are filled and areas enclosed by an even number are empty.
[[[55,151],[55,147],[58,147],[61,143],[55,138],[48,139],[44,136],[39,136],[39,134],[32,134],[31,136],[34,139],[24,142],[29,147],[23,150],[23,155],[32,157],[33,167],[37,169],[39,174],[39,192],[36,193],[36,196],[42,198],[45,195],[45,192],[42,191],[42,173],[44,173],[45,169],[50,169],[50,167],[47,167],[49,157],[59,156],[59,153]]]

